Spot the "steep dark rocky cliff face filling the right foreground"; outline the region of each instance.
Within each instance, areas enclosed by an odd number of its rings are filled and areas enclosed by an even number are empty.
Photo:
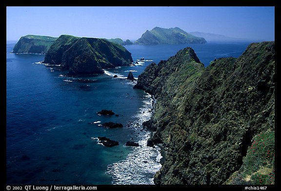
[[[243,157],[254,137],[274,137],[274,44],[252,43],[239,58],[221,58],[206,68],[185,48],[139,76],[135,88],[157,99],[147,123],[165,158],[156,184],[236,184],[242,171],[239,184],[253,183],[246,176],[263,167],[272,174],[274,155],[252,170],[245,170]]]

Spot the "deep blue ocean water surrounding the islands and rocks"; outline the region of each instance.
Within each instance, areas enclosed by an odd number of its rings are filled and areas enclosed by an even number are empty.
[[[7,184],[152,184],[161,168],[159,148],[146,147],[150,132],[141,123],[151,115],[151,96],[133,89],[135,77],[152,61],[159,63],[191,46],[206,66],[215,58],[239,57],[249,43],[126,45],[136,66],[107,69],[102,75],[67,77],[40,64],[44,55],[13,54],[6,49]],[[117,74],[118,78],[112,78]],[[77,78],[96,80],[76,82]],[[119,116],[99,116],[111,109]],[[121,123],[107,129],[104,122]],[[95,122],[95,123],[93,123]],[[106,148],[97,137],[119,141]],[[141,147],[125,147],[127,141]]]

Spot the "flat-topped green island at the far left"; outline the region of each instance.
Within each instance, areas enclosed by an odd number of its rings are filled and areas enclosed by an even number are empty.
[[[48,36],[26,35],[16,43],[13,53],[46,53],[56,39]]]

